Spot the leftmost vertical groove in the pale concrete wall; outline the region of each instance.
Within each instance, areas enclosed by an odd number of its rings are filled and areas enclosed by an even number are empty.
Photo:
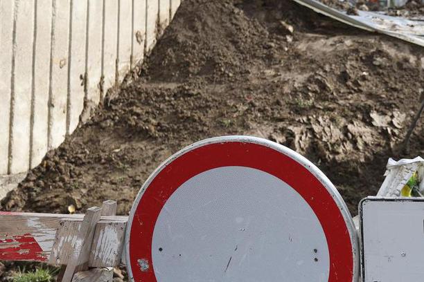
[[[17,10],[19,8],[19,0],[15,0],[13,6],[13,30],[12,30],[12,68],[10,75],[10,111],[9,111],[9,153],[8,153],[8,174],[12,170],[12,144],[13,144],[13,125],[15,115],[15,56],[16,56],[16,21]]]

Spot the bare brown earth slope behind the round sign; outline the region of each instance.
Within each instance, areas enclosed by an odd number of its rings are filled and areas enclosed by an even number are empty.
[[[293,32],[291,32],[294,30]],[[127,214],[172,153],[218,135],[256,135],[312,160],[357,214],[418,109],[424,50],[288,0],[186,0],[139,71],[48,153],[2,210],[77,212],[118,200]]]

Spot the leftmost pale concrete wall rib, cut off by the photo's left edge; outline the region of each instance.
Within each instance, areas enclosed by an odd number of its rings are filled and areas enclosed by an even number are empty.
[[[0,175],[8,173],[14,1],[0,1]]]

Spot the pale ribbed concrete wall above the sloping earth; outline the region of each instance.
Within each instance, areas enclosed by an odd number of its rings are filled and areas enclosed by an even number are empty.
[[[179,3],[0,0],[0,180],[58,147],[149,53]]]

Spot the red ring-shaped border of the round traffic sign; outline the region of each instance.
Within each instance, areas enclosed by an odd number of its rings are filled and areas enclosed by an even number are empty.
[[[166,201],[184,182],[203,171],[218,167],[240,166],[259,169],[280,178],[293,187],[317,215],[330,255],[328,282],[353,281],[354,260],[351,235],[333,196],[306,167],[281,151],[252,142],[229,141],[204,144],[183,153],[151,180],[143,192],[130,229],[128,250],[134,281],[157,282],[152,267],[154,225]],[[134,207],[133,207],[134,209]],[[142,272],[139,259],[150,267]]]

